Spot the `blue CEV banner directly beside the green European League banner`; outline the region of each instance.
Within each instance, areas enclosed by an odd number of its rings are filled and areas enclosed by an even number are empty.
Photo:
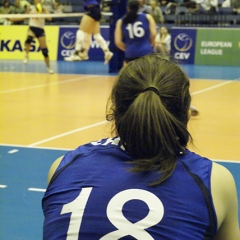
[[[172,28],[171,54],[180,63],[194,63],[197,29]]]

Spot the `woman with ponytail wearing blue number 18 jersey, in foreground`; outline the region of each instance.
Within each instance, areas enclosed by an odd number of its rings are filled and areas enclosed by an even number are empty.
[[[240,239],[231,173],[187,148],[189,84],[157,54],[120,70],[107,108],[116,137],[52,165],[43,239]]]

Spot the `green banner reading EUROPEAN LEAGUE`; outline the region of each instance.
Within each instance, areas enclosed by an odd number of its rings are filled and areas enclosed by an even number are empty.
[[[195,64],[240,66],[239,29],[198,29]]]

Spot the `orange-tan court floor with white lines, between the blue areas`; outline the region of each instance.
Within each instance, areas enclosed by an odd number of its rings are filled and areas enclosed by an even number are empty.
[[[73,149],[110,136],[106,101],[115,76],[0,72],[0,144]],[[189,130],[197,153],[240,161],[240,82],[191,79],[200,115]]]

